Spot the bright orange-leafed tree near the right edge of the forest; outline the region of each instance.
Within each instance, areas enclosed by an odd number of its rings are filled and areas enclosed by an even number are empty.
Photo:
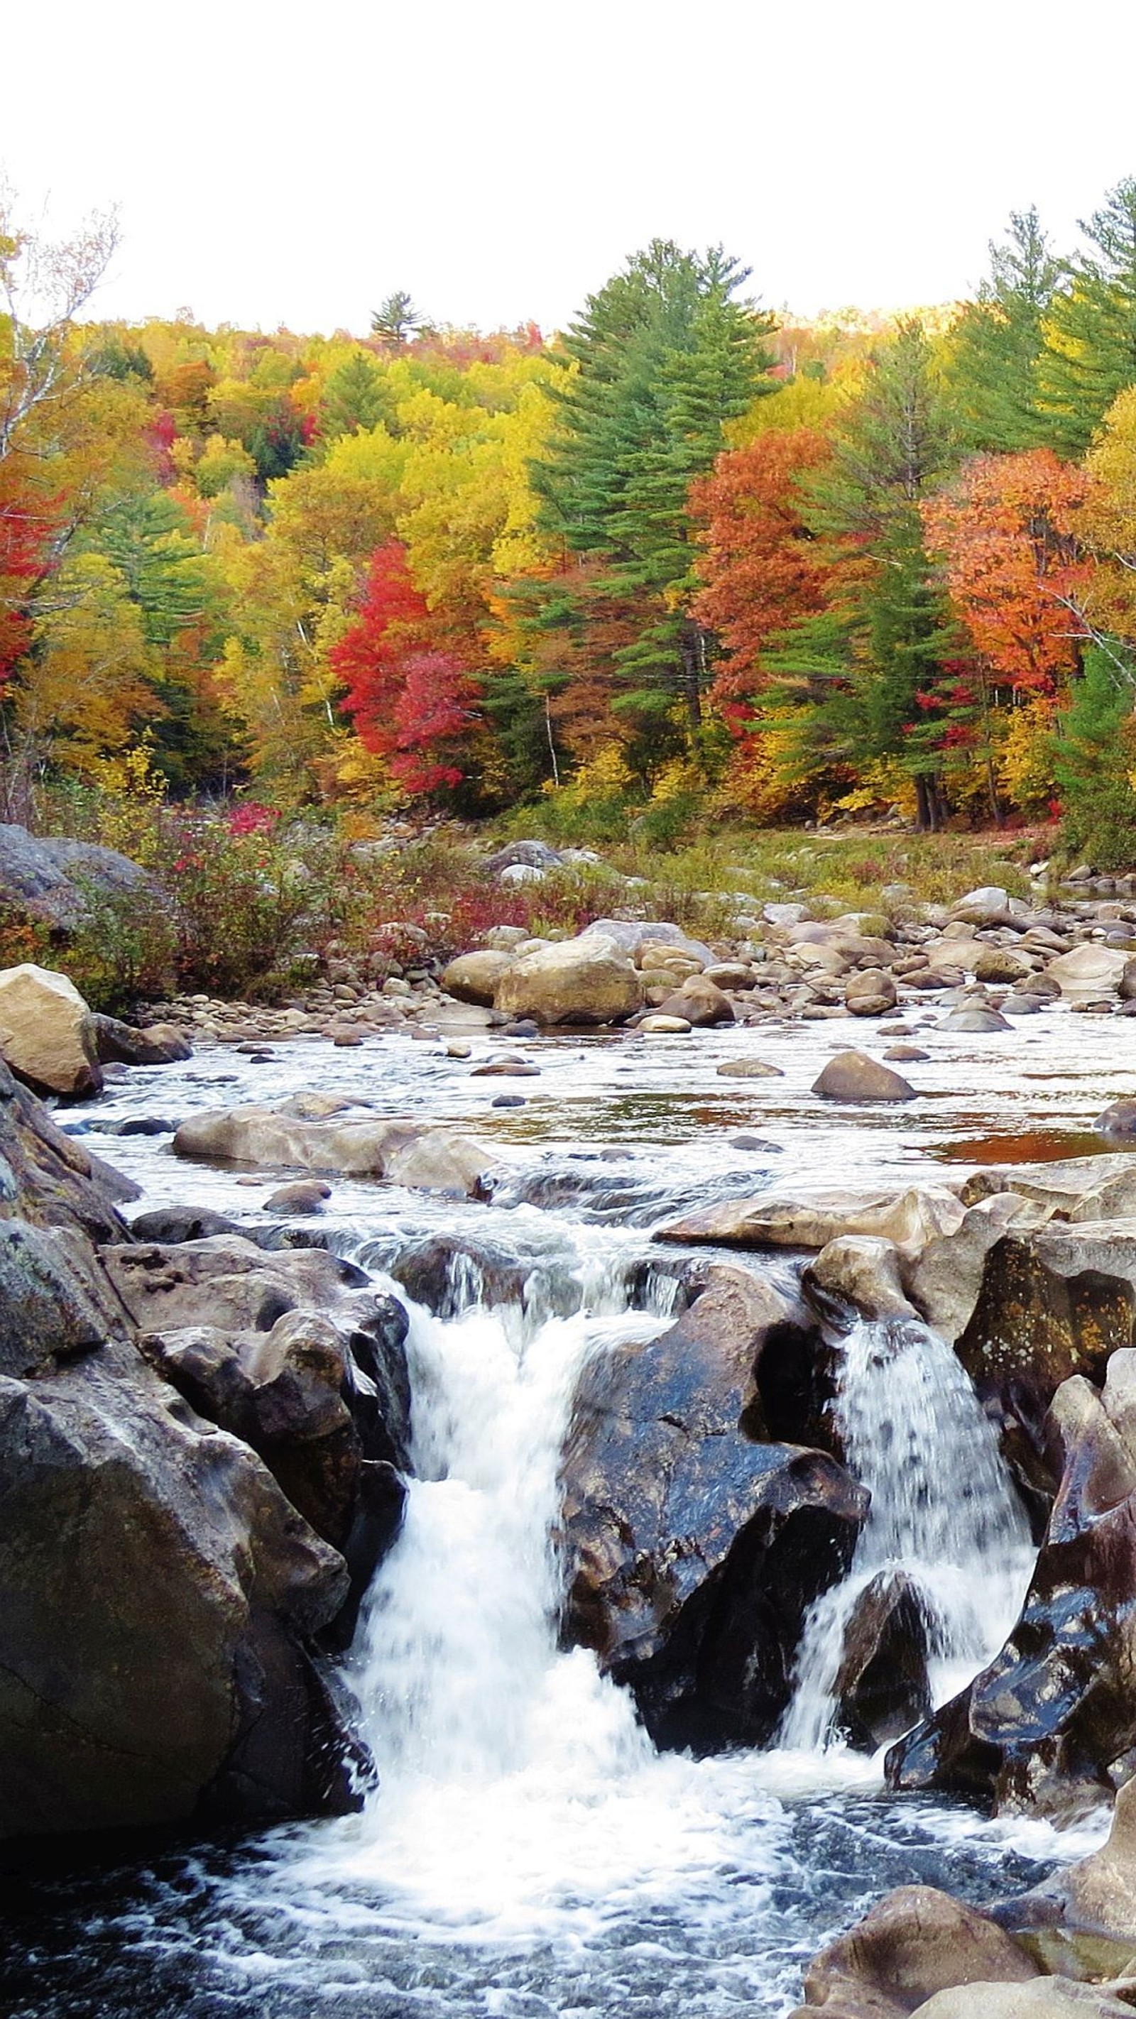
[[[1086,497],[1084,470],[1033,448],[977,456],[922,507],[954,612],[1013,697],[1055,695],[1077,668],[1094,569],[1077,541]]]

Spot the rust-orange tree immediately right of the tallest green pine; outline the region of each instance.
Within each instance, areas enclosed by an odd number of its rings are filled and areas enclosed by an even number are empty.
[[[805,525],[801,476],[827,454],[817,428],[759,434],[692,487],[702,577],[694,616],[722,644],[710,699],[734,733],[763,684],[769,640],[823,608],[831,563]]]

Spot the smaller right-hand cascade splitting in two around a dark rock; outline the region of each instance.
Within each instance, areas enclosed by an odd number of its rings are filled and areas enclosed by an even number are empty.
[[[876,1577],[904,1573],[918,1587],[932,1702],[942,1704],[1001,1648],[1035,1557],[995,1427],[954,1353],[926,1324],[856,1324],[833,1413],[872,1506],[845,1581],[805,1619],[779,1734],[787,1750],[803,1752],[835,1734],[845,1633]]]

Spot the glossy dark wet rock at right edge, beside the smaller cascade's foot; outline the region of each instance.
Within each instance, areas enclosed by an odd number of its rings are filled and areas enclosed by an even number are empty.
[[[1057,1819],[1108,1799],[1136,1748],[1136,1379],[1082,1377],[1047,1419],[1061,1484],[1021,1619],[944,1710],[888,1755],[902,1789],[962,1789]]]

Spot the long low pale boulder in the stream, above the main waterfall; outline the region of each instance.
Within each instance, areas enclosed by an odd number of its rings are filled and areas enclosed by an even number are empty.
[[[192,1114],[174,1137],[178,1157],[254,1169],[385,1177],[391,1185],[478,1193],[496,1151],[456,1129],[404,1121],[305,1121],[287,1104],[248,1102]]]

